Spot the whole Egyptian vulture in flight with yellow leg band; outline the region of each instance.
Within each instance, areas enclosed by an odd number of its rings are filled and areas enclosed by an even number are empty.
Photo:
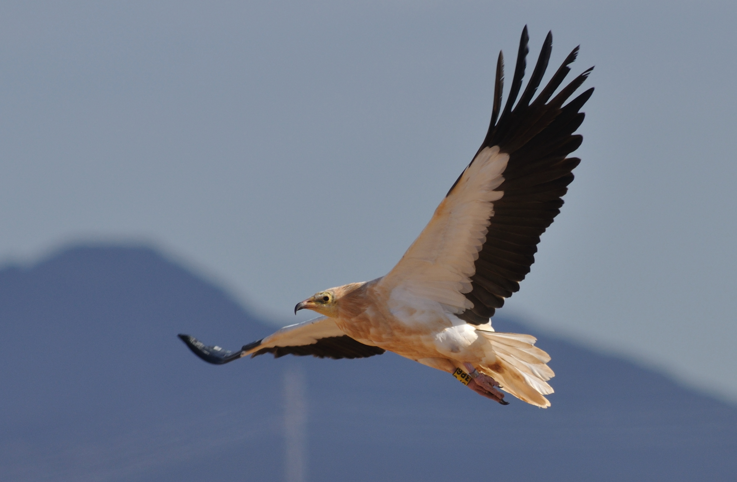
[[[473,391],[507,405],[497,388],[549,407],[550,357],[531,335],[495,332],[490,318],[520,289],[540,234],[563,205],[581,145],[573,135],[593,88],[563,105],[584,83],[587,69],[557,94],[579,47],[534,97],[551,55],[550,32],[530,80],[517,100],[528,53],[523,29],[509,98],[502,107],[500,52],[489,131],[478,152],[441,201],[430,223],[385,276],[321,291],[295,307],[322,316],[284,326],[238,352],[181,340],[206,362],[229,363],[273,353],[328,358],[372,357],[390,351],[447,371]],[[517,104],[515,105],[515,100]]]

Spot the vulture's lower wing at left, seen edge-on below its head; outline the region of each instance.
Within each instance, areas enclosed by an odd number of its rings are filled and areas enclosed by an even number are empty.
[[[214,365],[222,365],[250,354],[273,353],[274,357],[285,354],[304,356],[311,354],[318,358],[366,358],[374,354],[383,354],[385,350],[378,346],[359,343],[338,329],[335,320],[322,316],[290,326],[284,326],[262,340],[244,345],[240,351],[231,352],[220,346],[205,346],[204,343],[189,335],[179,335],[198,357]]]

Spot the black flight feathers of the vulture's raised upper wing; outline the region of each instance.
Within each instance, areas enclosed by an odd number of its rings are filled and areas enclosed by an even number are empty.
[[[499,53],[492,120],[478,149],[481,152],[486,147],[498,145],[502,153],[509,154],[509,163],[503,172],[504,182],[497,188],[504,195],[494,202],[494,215],[490,218],[486,242],[475,262],[472,290],[465,294],[474,307],[462,313],[460,318],[469,324],[488,322],[495,310],[503,306],[504,298],[509,298],[520,289],[520,281],[525,279],[534,262],[540,234],[545,232],[559,213],[563,205],[561,198],[567,192],[568,184],[573,181],[571,171],[581,162],[579,158],[566,156],[581,145],[583,138],[573,132],[584,120],[584,113],[579,110],[594,89],[584,91],[565,106],[563,104],[584,83],[593,67],[573,79],[553,97],[570,71],[570,63],[576,60],[579,52],[579,47],[576,47],[553,74],[548,85],[533,99],[551,56],[553,35],[548,32],[527,87],[515,106],[525,76],[528,40],[525,26],[509,98],[501,115],[504,58]],[[456,184],[458,181],[455,181],[448,195]]]

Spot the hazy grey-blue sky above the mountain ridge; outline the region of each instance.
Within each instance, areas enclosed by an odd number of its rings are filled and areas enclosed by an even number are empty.
[[[499,49],[595,65],[503,313],[737,400],[734,2],[2,2],[0,259],[149,242],[261,315],[382,276],[483,139]],[[508,72],[511,75],[511,73]],[[547,77],[546,77],[547,78]],[[301,319],[301,318],[297,318]]]

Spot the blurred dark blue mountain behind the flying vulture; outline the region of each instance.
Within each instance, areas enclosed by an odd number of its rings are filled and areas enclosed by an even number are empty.
[[[176,338],[270,331],[149,248],[3,268],[0,480],[283,480],[285,369],[305,377],[311,481],[737,479],[737,408],[564,340],[538,337],[557,374],[541,410],[394,354],[209,366]]]

